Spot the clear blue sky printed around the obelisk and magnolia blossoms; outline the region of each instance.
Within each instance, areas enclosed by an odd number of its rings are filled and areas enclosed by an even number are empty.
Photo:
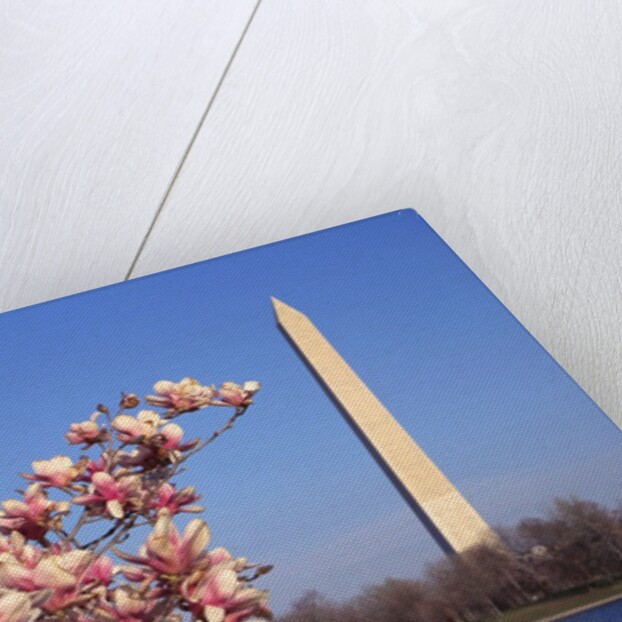
[[[256,404],[180,483],[215,546],[275,564],[277,610],[417,576],[437,550],[277,329],[306,313],[492,524],[555,496],[617,504],[622,435],[412,210],[0,316],[0,498],[120,391],[256,379]],[[180,423],[208,435],[226,412]]]

